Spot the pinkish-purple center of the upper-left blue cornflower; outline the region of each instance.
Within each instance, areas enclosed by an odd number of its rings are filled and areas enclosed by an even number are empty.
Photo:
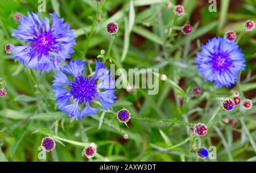
[[[49,56],[49,52],[56,49],[53,47],[53,45],[56,44],[56,41],[53,38],[51,31],[43,31],[43,28],[41,28],[40,33],[38,34],[34,32],[34,35],[34,39],[30,40],[33,42],[33,44],[31,44],[31,48],[33,50],[31,53],[34,51],[39,52],[40,56],[38,57],[38,60],[40,60],[42,54]]]

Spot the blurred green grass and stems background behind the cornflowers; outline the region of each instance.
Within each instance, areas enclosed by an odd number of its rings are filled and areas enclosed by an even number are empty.
[[[0,98],[0,160],[1,161],[88,161],[82,157],[83,147],[67,142],[56,142],[55,150],[39,160],[38,147],[42,138],[40,129],[77,142],[96,142],[96,157],[91,161],[202,161],[196,156],[199,147],[216,146],[217,160],[203,161],[256,161],[256,108],[248,111],[237,107],[232,112],[221,108],[218,97],[231,96],[230,88],[216,88],[205,82],[196,70],[195,56],[214,36],[223,36],[230,29],[239,35],[243,23],[256,22],[256,1],[217,0],[217,12],[209,12],[204,0],[103,0],[97,7],[94,0],[46,0],[46,12],[56,12],[76,29],[77,45],[72,59],[86,60],[94,69],[94,59],[102,49],[108,50],[110,35],[105,31],[110,21],[119,24],[111,56],[125,69],[158,68],[185,91],[184,100],[168,82],[159,82],[159,93],[147,95],[147,89],[116,92],[114,111],[126,108],[133,115],[158,119],[181,119],[189,123],[207,123],[208,134],[196,137],[189,128],[170,123],[131,119],[119,123],[111,113],[102,112],[74,121],[56,110],[51,81],[54,72],[40,75],[24,70],[23,65],[5,53],[11,43],[24,43],[11,37],[18,24],[15,12],[38,12],[42,3],[34,0],[0,1],[0,78],[6,82],[7,96]],[[43,1],[42,1],[43,2]],[[171,2],[171,7],[166,3]],[[167,36],[164,29],[174,17],[173,7],[183,5],[185,15],[176,18],[176,29]],[[134,21],[134,22],[133,22]],[[193,32],[184,36],[179,28],[189,23]],[[92,27],[93,26],[93,27]],[[246,32],[239,43],[245,53],[246,69],[241,75],[241,91],[245,98],[256,102],[256,29]],[[110,62],[106,62],[109,67]],[[36,84],[31,80],[36,78]],[[192,95],[193,87],[203,93]],[[187,108],[183,110],[184,102]],[[181,113],[182,112],[182,113]],[[181,117],[180,117],[181,113]],[[212,118],[213,117],[213,118]],[[211,119],[212,118],[212,119]],[[129,139],[123,135],[127,133]]]

